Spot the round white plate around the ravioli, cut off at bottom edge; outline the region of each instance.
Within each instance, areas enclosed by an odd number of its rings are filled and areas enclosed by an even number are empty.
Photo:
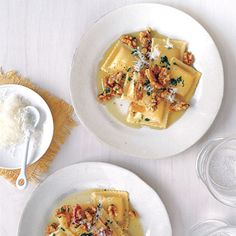
[[[18,236],[44,235],[51,211],[71,193],[91,188],[129,192],[146,236],[171,236],[165,206],[157,193],[132,172],[101,162],[79,163],[49,176],[34,191],[21,217]]]

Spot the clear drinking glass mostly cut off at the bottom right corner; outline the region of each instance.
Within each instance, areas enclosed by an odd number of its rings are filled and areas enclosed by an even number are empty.
[[[236,236],[236,227],[220,220],[207,220],[193,226],[188,236]]]

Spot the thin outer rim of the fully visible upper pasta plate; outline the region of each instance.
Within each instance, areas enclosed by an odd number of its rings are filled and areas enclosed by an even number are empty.
[[[118,11],[122,11],[122,10],[124,10],[126,8],[132,8],[132,7],[161,7],[161,8],[166,8],[166,9],[169,9],[169,10],[172,10],[172,11],[176,11],[177,13],[182,14],[184,17],[187,17],[187,18],[191,19],[196,25],[198,25],[198,27],[200,27],[208,35],[209,39],[212,41],[212,44],[213,44],[214,49],[215,49],[215,53],[217,55],[217,59],[219,61],[219,68],[218,68],[218,70],[220,71],[219,78],[220,78],[220,82],[221,82],[221,91],[218,93],[218,103],[217,103],[217,106],[216,106],[216,111],[215,111],[214,115],[211,117],[211,119],[209,119],[208,126],[204,129],[204,131],[202,131],[202,133],[201,133],[201,135],[199,135],[199,137],[197,137],[194,141],[192,141],[187,146],[185,146],[185,148],[182,148],[181,150],[172,152],[172,153],[164,155],[164,156],[158,156],[158,153],[155,153],[155,154],[152,154],[152,155],[150,155],[150,154],[146,155],[146,154],[140,154],[137,151],[136,151],[136,153],[134,153],[133,151],[130,151],[130,150],[127,150],[127,149],[124,150],[124,149],[122,149],[120,147],[119,144],[113,143],[109,139],[104,138],[104,136],[98,135],[96,133],[96,131],[94,131],[94,129],[92,127],[90,127],[89,124],[83,119],[83,115],[81,115],[80,110],[77,109],[77,105],[76,105],[76,102],[75,102],[76,98],[75,98],[75,95],[73,95],[73,92],[72,92],[72,81],[73,81],[73,79],[72,79],[72,72],[73,72],[74,66],[76,65],[76,57],[77,57],[77,54],[78,54],[78,52],[80,50],[80,47],[81,47],[80,45],[83,42],[84,38],[90,32],[92,32],[93,29],[96,28],[98,23],[101,23],[106,18],[110,17],[112,14],[114,14],[114,13],[116,13]],[[102,141],[102,143],[104,143],[104,144],[106,144],[108,146],[111,146],[111,147],[115,148],[116,150],[120,150],[124,154],[130,155],[130,156],[139,157],[139,158],[143,158],[143,159],[164,159],[164,158],[168,158],[168,157],[180,154],[180,153],[184,152],[185,150],[189,149],[194,144],[196,144],[206,134],[206,132],[210,129],[211,125],[213,124],[213,122],[216,119],[216,117],[218,115],[218,112],[220,110],[220,107],[221,107],[221,104],[222,104],[222,100],[223,100],[223,96],[224,96],[224,68],[223,68],[223,63],[222,63],[222,59],[221,59],[219,50],[217,48],[217,45],[216,45],[213,37],[206,30],[206,28],[203,25],[201,25],[194,17],[192,17],[191,15],[189,15],[188,13],[186,13],[186,12],[184,12],[182,10],[179,10],[179,9],[177,9],[175,7],[168,6],[168,5],[165,5],[165,4],[159,4],[159,3],[135,3],[135,4],[128,4],[126,6],[116,8],[114,10],[111,10],[111,11],[103,14],[100,18],[95,20],[93,25],[90,26],[90,28],[88,29],[88,31],[86,31],[82,35],[82,37],[79,40],[79,46],[76,48],[76,50],[74,52],[74,55],[73,55],[73,58],[72,58],[71,70],[70,70],[70,97],[71,97],[72,105],[74,107],[74,111],[75,111],[75,114],[77,115],[77,118],[80,120],[80,122],[83,124],[83,126],[86,127],[91,133],[93,133],[93,135],[95,137],[97,137],[98,140]],[[117,123],[119,123],[119,121],[117,121]]]

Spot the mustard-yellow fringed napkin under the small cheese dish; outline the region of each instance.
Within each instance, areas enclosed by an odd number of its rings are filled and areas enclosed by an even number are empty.
[[[60,150],[60,146],[69,136],[70,130],[76,126],[76,122],[72,118],[73,107],[62,99],[50,94],[48,91],[34,85],[28,79],[21,77],[15,71],[2,72],[0,71],[0,85],[2,84],[19,84],[28,87],[38,93],[48,104],[54,121],[54,134],[50,147],[46,153],[37,162],[27,166],[27,178],[29,181],[38,182],[40,176],[47,172],[50,163],[55,158]],[[7,170],[0,168],[0,176],[15,184],[20,170]]]

